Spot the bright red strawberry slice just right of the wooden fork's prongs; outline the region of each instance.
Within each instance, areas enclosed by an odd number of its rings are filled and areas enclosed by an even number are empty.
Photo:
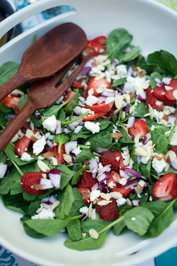
[[[101,78],[99,80],[95,80],[95,77],[91,77],[89,82],[88,82],[85,99],[89,95],[89,90],[92,90],[91,94],[93,96],[96,96],[96,97],[101,96],[101,93],[97,92],[97,89],[99,87],[105,87],[105,88],[109,89],[109,88],[111,88],[111,83],[108,82],[105,78]]]

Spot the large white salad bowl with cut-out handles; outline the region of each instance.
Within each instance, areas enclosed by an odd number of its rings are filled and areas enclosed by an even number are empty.
[[[0,23],[0,37],[15,24],[42,10],[68,4],[76,10],[62,14],[22,33],[0,48],[0,64],[7,61],[20,63],[23,52],[37,38],[51,28],[73,22],[79,25],[88,39],[107,35],[115,28],[126,28],[133,35],[133,44],[140,46],[147,56],[156,50],[167,50],[177,57],[177,13],[150,0],[43,0],[15,13]],[[114,236],[108,234],[105,244],[96,250],[79,252],[65,248],[65,235],[34,239],[23,230],[19,213],[6,209],[0,201],[0,244],[19,256],[43,266],[71,265],[137,265],[176,244],[177,213],[173,223],[157,238],[142,240],[130,231]],[[3,228],[3,230],[2,230]],[[132,254],[136,252],[135,254]],[[130,255],[132,254],[132,255]]]

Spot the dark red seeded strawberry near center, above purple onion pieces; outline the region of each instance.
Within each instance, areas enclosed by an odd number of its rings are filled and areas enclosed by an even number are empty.
[[[125,170],[123,164],[123,157],[120,151],[106,151],[104,154],[101,154],[100,162],[103,166],[111,165],[111,171],[119,173],[119,170]]]

